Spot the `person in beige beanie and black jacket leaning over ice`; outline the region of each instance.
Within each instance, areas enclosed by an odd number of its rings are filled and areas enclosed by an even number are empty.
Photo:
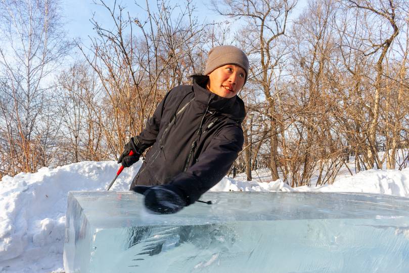
[[[198,201],[231,168],[243,146],[243,101],[249,62],[234,46],[210,50],[204,75],[170,90],[145,129],[125,145],[118,163],[129,167],[152,146],[132,181],[155,213],[175,213]],[[130,151],[133,155],[128,155]]]

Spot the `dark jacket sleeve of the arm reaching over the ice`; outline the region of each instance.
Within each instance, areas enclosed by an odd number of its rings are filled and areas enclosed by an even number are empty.
[[[170,183],[185,193],[188,205],[193,204],[229,172],[243,148],[243,142],[241,128],[220,130],[200,154],[197,163],[176,175]]]

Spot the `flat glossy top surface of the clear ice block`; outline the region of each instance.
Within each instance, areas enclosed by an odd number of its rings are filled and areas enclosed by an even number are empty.
[[[383,194],[333,192],[208,192],[172,215],[155,215],[141,194],[126,191],[71,191],[88,222],[98,228],[200,225],[220,222],[409,217],[409,199]]]

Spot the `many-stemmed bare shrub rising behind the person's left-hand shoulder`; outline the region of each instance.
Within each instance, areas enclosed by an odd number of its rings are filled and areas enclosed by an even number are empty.
[[[156,9],[148,2],[138,6],[145,9],[147,18],[132,17],[116,3],[110,7],[99,1],[98,5],[108,12],[114,28],[94,20],[93,55],[79,47],[107,95],[105,114],[111,119],[104,130],[110,152],[117,156],[128,138],[143,129],[165,93],[199,70],[196,58],[201,52],[195,53],[195,48],[204,26],[193,16],[189,2],[185,7],[160,1]]]

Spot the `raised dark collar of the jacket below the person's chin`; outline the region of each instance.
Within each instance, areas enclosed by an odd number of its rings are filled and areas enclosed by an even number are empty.
[[[204,109],[209,104],[210,110],[215,110],[229,118],[241,123],[246,115],[244,103],[237,95],[233,98],[223,98],[193,82],[193,92],[195,93],[195,101],[203,105]]]

